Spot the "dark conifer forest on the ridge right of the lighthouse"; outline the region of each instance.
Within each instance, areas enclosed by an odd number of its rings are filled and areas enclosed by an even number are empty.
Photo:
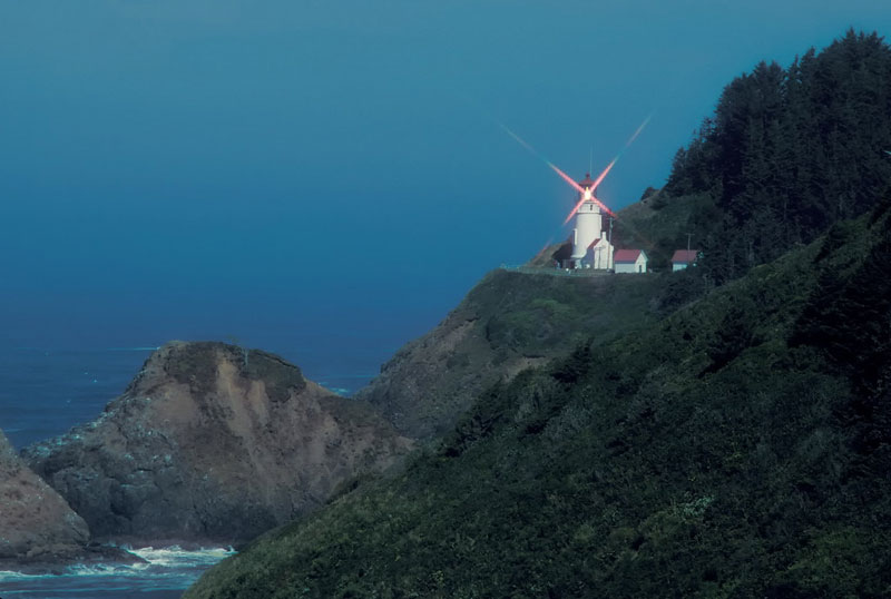
[[[871,209],[891,181],[890,70],[882,38],[849,31],[787,69],[737,77],[664,189],[619,215],[618,242],[658,267],[693,233],[701,274],[719,283]]]

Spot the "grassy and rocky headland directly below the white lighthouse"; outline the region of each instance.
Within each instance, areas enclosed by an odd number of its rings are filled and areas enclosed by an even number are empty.
[[[442,323],[402,347],[358,397],[379,406],[403,434],[441,434],[487,386],[565,355],[584,338],[605,343],[650,325],[684,300],[685,292],[663,298],[665,287],[649,275],[493,271]]]

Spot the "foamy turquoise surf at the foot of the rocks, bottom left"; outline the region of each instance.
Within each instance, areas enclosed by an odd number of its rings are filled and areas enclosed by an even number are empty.
[[[72,566],[55,575],[0,571],[2,599],[174,599],[232,548],[179,547],[130,549],[145,563]]]

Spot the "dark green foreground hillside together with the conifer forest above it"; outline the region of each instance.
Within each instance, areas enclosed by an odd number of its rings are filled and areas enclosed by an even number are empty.
[[[889,102],[875,35],[736,79],[649,200],[704,255],[658,318],[186,597],[891,597]]]

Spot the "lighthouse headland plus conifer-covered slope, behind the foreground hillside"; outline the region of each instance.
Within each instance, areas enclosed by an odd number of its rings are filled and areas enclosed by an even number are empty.
[[[603,279],[496,273],[400,351],[359,397],[402,433],[435,436],[486,386],[565,353],[579,334],[600,342],[628,324],[646,325],[872,209],[891,193],[883,151],[891,147],[889,68],[891,47],[882,38],[849,31],[786,69],[761,63],[734,79],[678,151],[665,188],[648,189],[616,219],[615,245],[646,249],[656,271],[667,271],[672,253],[691,238],[703,251],[695,272],[649,278],[643,293],[618,288],[630,284],[618,278],[614,292],[598,286]],[[530,265],[550,266],[557,247]]]

